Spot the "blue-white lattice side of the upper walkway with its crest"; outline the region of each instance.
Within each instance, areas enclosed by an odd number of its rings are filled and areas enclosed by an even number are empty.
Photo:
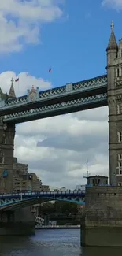
[[[39,87],[34,89],[32,87],[31,91],[28,90],[28,95],[24,95],[19,98],[7,99],[5,102],[2,101],[0,104],[0,109],[12,109],[17,106],[24,106],[32,102],[43,102],[43,100],[50,100],[53,98],[73,95],[76,93],[91,91],[101,87],[107,87],[107,76],[98,76],[90,80],[84,80],[78,83],[68,83],[62,87],[56,87],[46,91],[40,91]]]

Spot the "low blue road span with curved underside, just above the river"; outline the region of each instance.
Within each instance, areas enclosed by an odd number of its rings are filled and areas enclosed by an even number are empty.
[[[39,202],[41,198],[51,200],[60,200],[68,202],[76,202],[84,205],[85,191],[50,191],[50,192],[25,192],[0,194],[0,210],[9,210],[16,207],[26,207]]]

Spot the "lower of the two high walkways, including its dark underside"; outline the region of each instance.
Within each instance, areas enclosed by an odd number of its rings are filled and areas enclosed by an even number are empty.
[[[36,109],[24,110],[20,113],[11,113],[3,118],[4,122],[22,123],[46,117],[54,117],[64,113],[78,112],[107,105],[107,93],[78,98],[68,102],[43,106]]]

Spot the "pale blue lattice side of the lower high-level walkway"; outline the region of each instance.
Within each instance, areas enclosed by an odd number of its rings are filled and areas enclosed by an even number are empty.
[[[9,115],[6,115],[3,121],[17,122],[17,120],[21,120],[22,118],[26,119],[26,117],[31,117],[31,120],[33,120],[34,117],[36,117],[37,119],[41,118],[42,114],[51,113],[53,116],[53,113],[55,113],[54,115],[57,115],[56,111],[64,109],[64,112],[65,112],[65,109],[71,109],[71,108],[73,112],[73,108],[76,108],[78,106],[81,106],[81,109],[82,109],[82,106],[87,106],[87,105],[90,105],[91,103],[106,102],[106,101],[107,101],[107,93],[103,93],[100,95],[93,95],[86,98],[78,98],[68,102],[61,102],[54,105],[43,106],[35,109],[29,109],[19,113],[11,113]]]

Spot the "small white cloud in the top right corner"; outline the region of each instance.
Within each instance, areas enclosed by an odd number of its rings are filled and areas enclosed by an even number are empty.
[[[122,9],[122,0],[102,0],[102,6],[119,11]]]

